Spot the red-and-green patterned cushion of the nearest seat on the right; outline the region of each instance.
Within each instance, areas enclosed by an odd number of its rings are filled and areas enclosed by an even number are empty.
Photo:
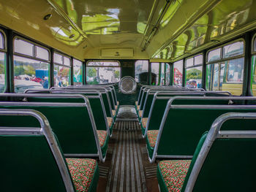
[[[190,163],[191,160],[159,162],[159,180],[164,180],[167,191],[181,191]]]

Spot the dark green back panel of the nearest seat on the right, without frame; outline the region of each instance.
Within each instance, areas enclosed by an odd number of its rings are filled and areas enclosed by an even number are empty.
[[[255,130],[255,124],[256,120],[227,120],[222,125],[221,131]],[[200,147],[202,144],[199,143],[181,191],[184,191],[187,185]],[[193,191],[256,191],[255,147],[255,138],[216,139],[200,169]]]

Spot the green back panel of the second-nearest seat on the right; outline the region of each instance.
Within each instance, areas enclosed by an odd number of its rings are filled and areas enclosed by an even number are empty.
[[[214,120],[226,112],[255,112],[244,109],[170,109],[159,142],[158,155],[193,155],[200,136]],[[241,130],[238,120],[230,121],[223,130]],[[244,128],[252,127],[249,121]],[[249,122],[249,123],[248,123]],[[252,127],[252,129],[254,129]]]

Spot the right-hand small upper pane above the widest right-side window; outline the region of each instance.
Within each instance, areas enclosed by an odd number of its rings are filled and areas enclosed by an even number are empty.
[[[242,54],[244,54],[244,42],[235,42],[223,47],[223,58],[230,58]]]

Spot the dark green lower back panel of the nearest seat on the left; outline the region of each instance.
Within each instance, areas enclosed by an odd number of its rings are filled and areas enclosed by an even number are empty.
[[[66,191],[44,136],[1,135],[0,145],[1,191]]]

